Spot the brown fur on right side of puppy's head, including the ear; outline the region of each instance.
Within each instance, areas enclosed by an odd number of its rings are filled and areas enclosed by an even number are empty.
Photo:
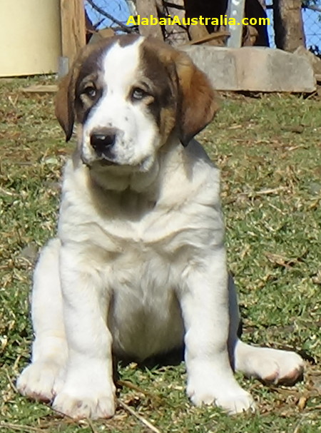
[[[175,50],[156,39],[143,43],[143,63],[148,76],[158,77],[156,83],[167,83],[171,95],[178,98],[174,105],[163,107],[163,118],[169,116],[170,124],[178,124],[178,134],[184,146],[212,121],[218,105],[215,93],[205,73],[200,71],[187,54]],[[165,73],[163,72],[165,71]],[[163,75],[163,79],[159,78]],[[168,112],[169,111],[169,112]],[[174,122],[173,122],[174,120]]]

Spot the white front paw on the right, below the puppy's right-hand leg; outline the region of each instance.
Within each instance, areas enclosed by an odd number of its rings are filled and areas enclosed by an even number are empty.
[[[255,409],[253,398],[237,382],[228,383],[218,379],[190,380],[187,393],[196,406],[215,404],[228,414]]]

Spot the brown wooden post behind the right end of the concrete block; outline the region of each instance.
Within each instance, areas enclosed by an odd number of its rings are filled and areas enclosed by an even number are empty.
[[[286,51],[305,47],[301,0],[274,0],[275,45]]]

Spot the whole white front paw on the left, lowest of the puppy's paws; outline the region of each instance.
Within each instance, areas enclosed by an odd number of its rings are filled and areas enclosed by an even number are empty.
[[[80,379],[82,380],[82,378]],[[104,382],[104,381],[103,381]],[[54,399],[53,408],[73,419],[111,418],[115,414],[115,387],[105,383],[68,385]]]

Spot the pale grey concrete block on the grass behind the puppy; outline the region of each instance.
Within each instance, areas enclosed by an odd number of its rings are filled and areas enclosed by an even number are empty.
[[[315,91],[312,66],[306,58],[279,49],[243,46],[181,48],[221,91]]]

